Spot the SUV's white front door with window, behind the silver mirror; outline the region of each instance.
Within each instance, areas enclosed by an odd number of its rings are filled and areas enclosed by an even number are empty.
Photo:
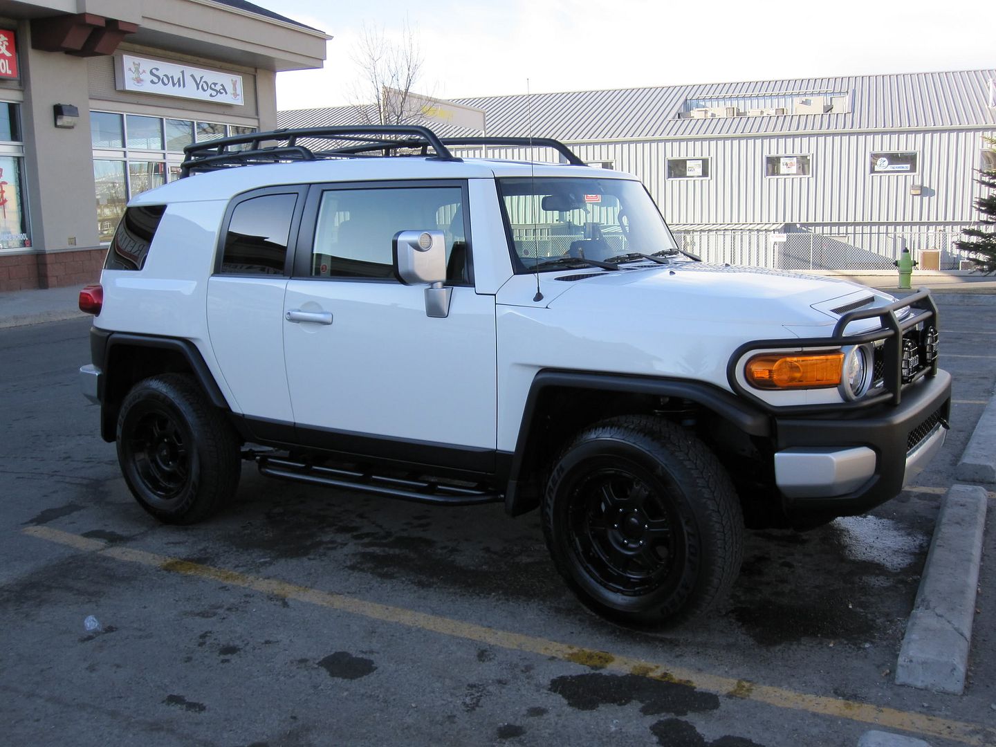
[[[466,182],[315,186],[284,300],[299,437],[489,471],[496,439],[495,300],[473,286]],[[442,230],[449,316],[393,277],[392,238]]]

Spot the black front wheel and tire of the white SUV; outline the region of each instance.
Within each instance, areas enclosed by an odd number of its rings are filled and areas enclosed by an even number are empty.
[[[557,570],[604,617],[660,626],[727,596],[743,557],[743,515],[722,465],[660,417],[583,430],[554,466],[543,527]]]

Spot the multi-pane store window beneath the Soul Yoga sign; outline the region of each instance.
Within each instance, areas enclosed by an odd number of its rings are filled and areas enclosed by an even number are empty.
[[[91,112],[90,130],[97,185],[98,232],[101,242],[108,243],[131,197],[180,178],[184,147],[195,140],[255,132],[256,127]],[[0,134],[2,132],[0,107]]]

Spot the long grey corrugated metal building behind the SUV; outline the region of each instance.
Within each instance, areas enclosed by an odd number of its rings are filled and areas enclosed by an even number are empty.
[[[489,135],[557,137],[636,174],[686,247],[713,261],[873,270],[909,248],[924,269],[957,269],[952,242],[978,219],[976,169],[996,164],[983,140],[996,135],[994,80],[981,70],[456,103],[483,110]],[[282,126],[356,118],[350,107],[279,114]]]

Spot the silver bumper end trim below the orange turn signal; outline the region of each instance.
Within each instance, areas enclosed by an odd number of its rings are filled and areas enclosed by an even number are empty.
[[[775,454],[775,483],[787,498],[832,498],[860,488],[874,468],[868,446],[800,446]]]

